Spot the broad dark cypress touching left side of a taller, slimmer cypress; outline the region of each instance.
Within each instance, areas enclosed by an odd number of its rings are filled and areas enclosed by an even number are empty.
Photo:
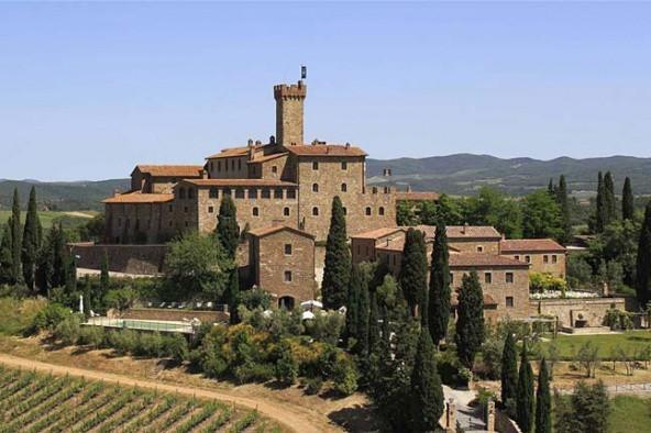
[[[427,290],[427,266],[424,235],[421,231],[409,227],[405,236],[398,281],[413,317],[416,317],[417,306],[422,302]],[[427,311],[422,313],[427,313]]]

